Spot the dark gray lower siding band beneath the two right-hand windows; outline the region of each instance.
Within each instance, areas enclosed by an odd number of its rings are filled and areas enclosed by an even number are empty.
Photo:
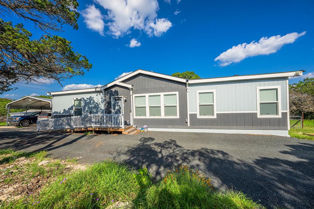
[[[204,121],[206,120],[206,123]],[[257,118],[257,113],[217,113],[217,118],[197,118],[190,114],[189,128],[288,130],[287,113],[282,118]]]

